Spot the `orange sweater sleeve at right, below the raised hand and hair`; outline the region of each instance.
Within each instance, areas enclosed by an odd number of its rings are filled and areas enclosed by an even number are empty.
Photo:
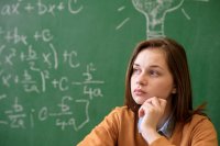
[[[194,115],[193,120],[184,125],[182,139],[175,142],[176,145],[183,146],[218,146],[217,132],[213,124],[206,116]],[[177,133],[176,133],[177,134]],[[161,136],[150,146],[176,146],[168,139]]]

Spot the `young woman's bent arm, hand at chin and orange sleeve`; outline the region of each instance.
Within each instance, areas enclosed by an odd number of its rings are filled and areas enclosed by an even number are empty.
[[[157,98],[151,98],[140,108],[139,116],[143,117],[141,134],[150,146],[175,146],[156,132],[156,125],[163,115],[165,102]],[[217,132],[212,123],[206,116],[194,115],[184,128],[176,133],[183,134],[178,145],[190,146],[218,146]]]

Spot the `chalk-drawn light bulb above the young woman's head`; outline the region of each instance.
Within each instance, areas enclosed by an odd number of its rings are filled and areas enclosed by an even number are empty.
[[[184,0],[132,0],[134,8],[146,18],[146,38],[164,36],[167,12],[178,9]]]

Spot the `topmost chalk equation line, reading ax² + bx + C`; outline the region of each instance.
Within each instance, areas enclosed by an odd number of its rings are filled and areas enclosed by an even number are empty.
[[[77,14],[84,10],[80,0],[67,0],[48,2],[44,0],[36,0],[34,2],[25,2],[24,0],[14,0],[12,3],[0,4],[0,14],[4,16],[20,15],[22,13],[29,14],[50,14],[56,16],[58,13],[67,11],[70,14]]]

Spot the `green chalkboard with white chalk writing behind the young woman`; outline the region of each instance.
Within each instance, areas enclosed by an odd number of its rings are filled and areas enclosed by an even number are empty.
[[[1,0],[0,145],[76,145],[123,104],[136,43],[161,35],[186,47],[194,104],[219,133],[220,1],[146,1]]]

